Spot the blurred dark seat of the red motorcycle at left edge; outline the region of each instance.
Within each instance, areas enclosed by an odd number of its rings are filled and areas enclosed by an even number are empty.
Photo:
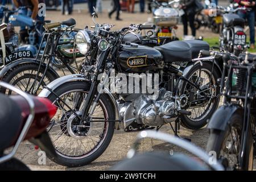
[[[0,152],[10,147],[22,128],[22,111],[10,97],[0,94]]]

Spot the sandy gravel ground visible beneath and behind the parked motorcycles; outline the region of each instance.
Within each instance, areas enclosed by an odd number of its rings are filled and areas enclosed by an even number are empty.
[[[78,28],[84,28],[86,25],[92,26],[92,18],[85,10],[75,11],[73,15],[62,16],[60,15],[60,11],[48,11],[47,18],[51,19],[53,22],[55,21],[62,21],[69,18],[75,18],[77,22]],[[121,18],[123,21],[115,21],[113,18],[110,20],[108,18],[107,11],[105,10],[104,13],[99,15],[97,19],[98,23],[111,23],[115,24],[115,28],[121,28],[123,26],[129,26],[131,23],[143,23],[146,22],[148,18],[151,18],[151,14],[127,14],[122,13]],[[182,27],[179,26],[178,30],[176,31],[177,36],[182,37]],[[209,30],[201,29],[197,32],[197,36],[204,36],[204,37],[212,37],[217,36]],[[174,134],[171,130],[170,125],[166,125],[160,129],[164,133]],[[39,165],[38,164],[38,152],[39,150],[35,150],[34,145],[28,142],[24,142],[16,154],[16,157],[21,159],[24,163],[28,164],[28,166],[33,170],[104,170],[108,169],[109,167],[113,166],[113,164],[117,163],[119,160],[126,157],[127,151],[133,144],[133,141],[138,133],[125,133],[124,131],[115,131],[114,137],[110,146],[104,152],[103,155],[100,156],[97,160],[93,163],[89,164],[88,166],[79,167],[79,168],[67,168],[63,166],[59,166],[50,160],[47,159],[46,165]],[[191,131],[186,130],[181,127],[180,134],[181,137],[190,138],[193,143],[197,144],[198,146],[205,148],[208,139],[208,130],[206,128]],[[142,143],[141,150],[148,151],[148,150],[174,150],[174,152],[181,152],[180,148],[171,146],[165,142],[159,142],[155,140],[147,139]],[[255,165],[254,165],[255,166]]]

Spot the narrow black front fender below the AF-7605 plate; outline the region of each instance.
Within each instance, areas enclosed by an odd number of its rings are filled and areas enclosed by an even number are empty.
[[[21,64],[26,64],[26,63],[34,63],[34,64],[40,64],[39,60],[36,59],[20,59],[20,60],[16,60],[13,63],[7,64],[5,67],[3,67],[0,71],[0,80],[2,80],[2,78],[6,75],[6,73],[8,71],[10,71],[11,69],[15,68],[18,65]],[[46,64],[42,63],[42,68],[46,68]],[[48,68],[48,71],[55,76],[56,78],[59,78],[60,76],[58,75],[58,73],[52,69],[51,67]]]

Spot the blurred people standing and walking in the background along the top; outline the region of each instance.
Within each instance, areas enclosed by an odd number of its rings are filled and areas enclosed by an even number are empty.
[[[74,0],[60,0],[61,2],[61,13],[62,14],[72,14]],[[121,2],[120,0],[112,0],[113,9],[109,12],[109,18],[112,18],[112,15],[116,12],[115,19],[122,20],[119,15],[121,11]],[[152,1],[152,0],[151,0]],[[196,37],[196,28],[195,28],[195,9],[196,9],[197,0],[181,0],[180,9],[184,10],[184,14],[181,16],[183,25],[184,25],[184,36],[188,35],[188,23],[191,27],[192,36]],[[254,10],[256,0],[233,0],[238,3],[240,7],[250,7]],[[5,5],[7,0],[2,0],[2,5]],[[31,8],[31,17],[34,19],[40,19],[37,15],[38,3],[45,2],[44,0],[13,0],[13,5],[16,7],[19,6],[28,6]],[[218,0],[212,0],[212,3],[218,5]],[[126,10],[129,13],[134,13],[135,0],[126,0],[122,1],[126,3]],[[145,9],[145,0],[139,0],[140,12],[144,13]],[[93,13],[93,7],[96,7],[97,11],[102,12],[102,0],[88,0],[88,9],[89,13]],[[149,9],[150,10],[150,7]],[[239,11],[238,15],[241,18],[246,19],[250,27],[250,47],[255,48],[255,11]]]

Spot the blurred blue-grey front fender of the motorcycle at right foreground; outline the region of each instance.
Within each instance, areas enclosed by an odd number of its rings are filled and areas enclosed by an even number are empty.
[[[236,104],[221,106],[210,118],[208,129],[225,131],[234,113],[243,115],[242,107]]]

